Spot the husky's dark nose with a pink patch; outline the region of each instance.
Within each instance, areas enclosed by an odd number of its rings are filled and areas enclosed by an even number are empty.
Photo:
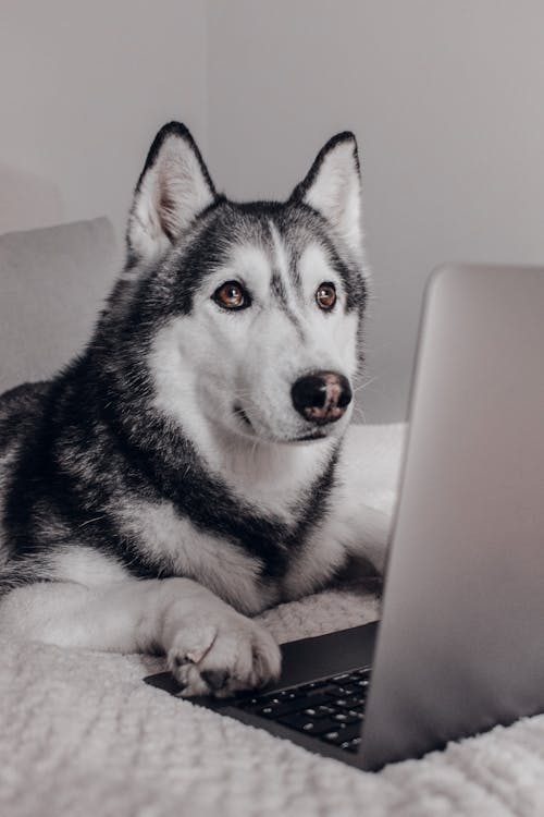
[[[293,405],[305,419],[318,426],[335,423],[351,402],[349,380],[336,371],[317,371],[300,377],[290,390]]]

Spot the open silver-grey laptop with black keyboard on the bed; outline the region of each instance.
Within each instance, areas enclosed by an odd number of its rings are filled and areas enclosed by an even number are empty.
[[[544,711],[544,269],[431,277],[381,623],[282,651],[195,703],[367,770]]]

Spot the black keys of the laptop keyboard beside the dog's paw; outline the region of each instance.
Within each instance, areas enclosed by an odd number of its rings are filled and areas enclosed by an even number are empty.
[[[236,703],[247,712],[320,741],[357,752],[370,684],[370,668],[343,672]]]

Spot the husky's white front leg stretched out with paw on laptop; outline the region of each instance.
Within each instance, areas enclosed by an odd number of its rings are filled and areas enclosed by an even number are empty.
[[[188,578],[18,587],[0,601],[0,634],[65,647],[161,650],[185,695],[226,695],[280,673],[270,633]]]

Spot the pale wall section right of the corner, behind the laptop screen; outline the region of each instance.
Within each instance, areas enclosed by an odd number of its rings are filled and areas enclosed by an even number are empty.
[[[228,193],[285,196],[335,131],[359,138],[375,294],[362,404],[370,419],[400,417],[429,271],[544,263],[544,3],[208,11],[210,164]]]

